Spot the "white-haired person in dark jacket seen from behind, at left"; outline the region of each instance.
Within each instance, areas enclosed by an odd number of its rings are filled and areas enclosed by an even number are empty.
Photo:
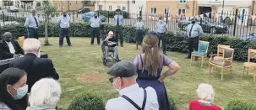
[[[52,77],[58,80],[59,76],[52,64],[52,60],[39,58],[41,56],[41,43],[38,39],[25,39],[23,47],[25,56],[14,60],[10,63],[10,66],[27,72],[29,92],[35,82],[41,78]]]

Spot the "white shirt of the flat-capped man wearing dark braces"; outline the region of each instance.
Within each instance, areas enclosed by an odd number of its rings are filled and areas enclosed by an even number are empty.
[[[158,110],[159,105],[157,101],[156,92],[152,87],[147,87],[147,101],[144,107],[144,110]],[[139,85],[136,83],[132,86],[128,86],[119,92],[120,96],[127,96],[133,102],[135,102],[140,108],[143,104],[144,99],[144,90],[140,88]],[[110,99],[106,102],[106,110],[137,110],[130,102],[128,102],[123,97],[117,97]]]

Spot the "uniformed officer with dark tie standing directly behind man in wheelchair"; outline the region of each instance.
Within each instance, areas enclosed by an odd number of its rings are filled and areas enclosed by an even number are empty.
[[[117,15],[114,16],[114,20],[115,20],[115,25],[116,25],[116,39],[118,41],[118,38],[120,38],[120,44],[121,47],[123,47],[123,15],[121,15],[121,10],[117,9],[116,10]]]

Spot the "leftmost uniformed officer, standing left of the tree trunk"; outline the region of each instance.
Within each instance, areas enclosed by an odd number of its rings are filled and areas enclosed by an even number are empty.
[[[28,38],[38,39],[37,29],[39,26],[39,21],[38,18],[35,16],[35,9],[31,10],[30,13],[32,13],[32,15],[26,18],[25,21],[25,28],[28,32]]]

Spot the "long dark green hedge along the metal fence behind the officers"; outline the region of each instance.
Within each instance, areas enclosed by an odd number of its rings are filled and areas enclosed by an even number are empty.
[[[44,26],[40,24],[38,33],[39,36],[44,36]],[[57,37],[59,36],[59,26],[57,24],[49,24],[48,35]],[[88,23],[72,23],[71,24],[71,36],[75,37],[90,37],[90,24]],[[112,24],[105,24],[104,28],[101,28],[101,35],[106,35],[110,30],[114,31],[115,27]],[[24,23],[5,25],[0,28],[0,33],[11,32],[15,37],[25,36],[26,29]],[[144,30],[145,32],[147,29]],[[123,39],[128,43],[135,42],[135,28],[132,26],[123,27]],[[200,37],[200,40],[209,41],[210,48],[209,54],[217,53],[217,45],[231,45],[231,48],[235,49],[235,60],[248,60],[248,48],[256,49],[256,41],[249,39],[231,38],[228,36],[215,36],[214,34],[204,34]],[[174,34],[168,32],[166,34],[166,50],[188,52],[188,36],[185,33]]]

